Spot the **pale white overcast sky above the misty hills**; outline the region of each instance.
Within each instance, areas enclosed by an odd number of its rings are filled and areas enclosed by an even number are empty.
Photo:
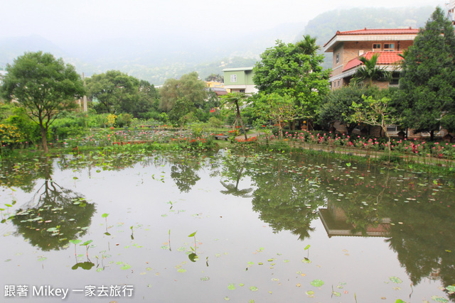
[[[154,35],[229,39],[333,9],[438,4],[444,7],[438,0],[0,0],[0,38],[36,34],[57,44]]]

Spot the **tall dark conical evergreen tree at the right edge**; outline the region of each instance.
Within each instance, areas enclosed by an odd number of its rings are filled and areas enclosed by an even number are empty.
[[[454,26],[439,7],[405,55],[397,106],[405,126],[432,139],[439,126],[455,131]]]

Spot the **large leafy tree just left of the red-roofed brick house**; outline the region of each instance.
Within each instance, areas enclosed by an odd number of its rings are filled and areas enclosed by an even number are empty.
[[[316,53],[316,41],[309,36],[296,44],[277,40],[261,54],[254,68],[253,82],[259,92],[287,95],[301,107],[307,118],[316,114],[328,94],[330,70],[323,70],[323,55]]]

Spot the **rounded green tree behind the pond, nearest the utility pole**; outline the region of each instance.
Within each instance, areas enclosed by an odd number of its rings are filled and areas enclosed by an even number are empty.
[[[95,106],[98,113],[133,113],[139,101],[139,79],[118,70],[108,70],[87,79],[87,95],[100,102]]]

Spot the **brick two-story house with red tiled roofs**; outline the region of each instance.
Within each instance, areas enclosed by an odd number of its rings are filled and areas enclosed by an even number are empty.
[[[378,67],[385,67],[393,72],[391,82],[375,82],[380,88],[398,84],[400,54],[414,42],[419,33],[417,28],[368,29],[356,31],[337,31],[324,45],[326,53],[333,53],[333,72],[329,79],[331,89],[348,85],[358,67],[362,65],[358,58],[370,59],[378,54]]]

